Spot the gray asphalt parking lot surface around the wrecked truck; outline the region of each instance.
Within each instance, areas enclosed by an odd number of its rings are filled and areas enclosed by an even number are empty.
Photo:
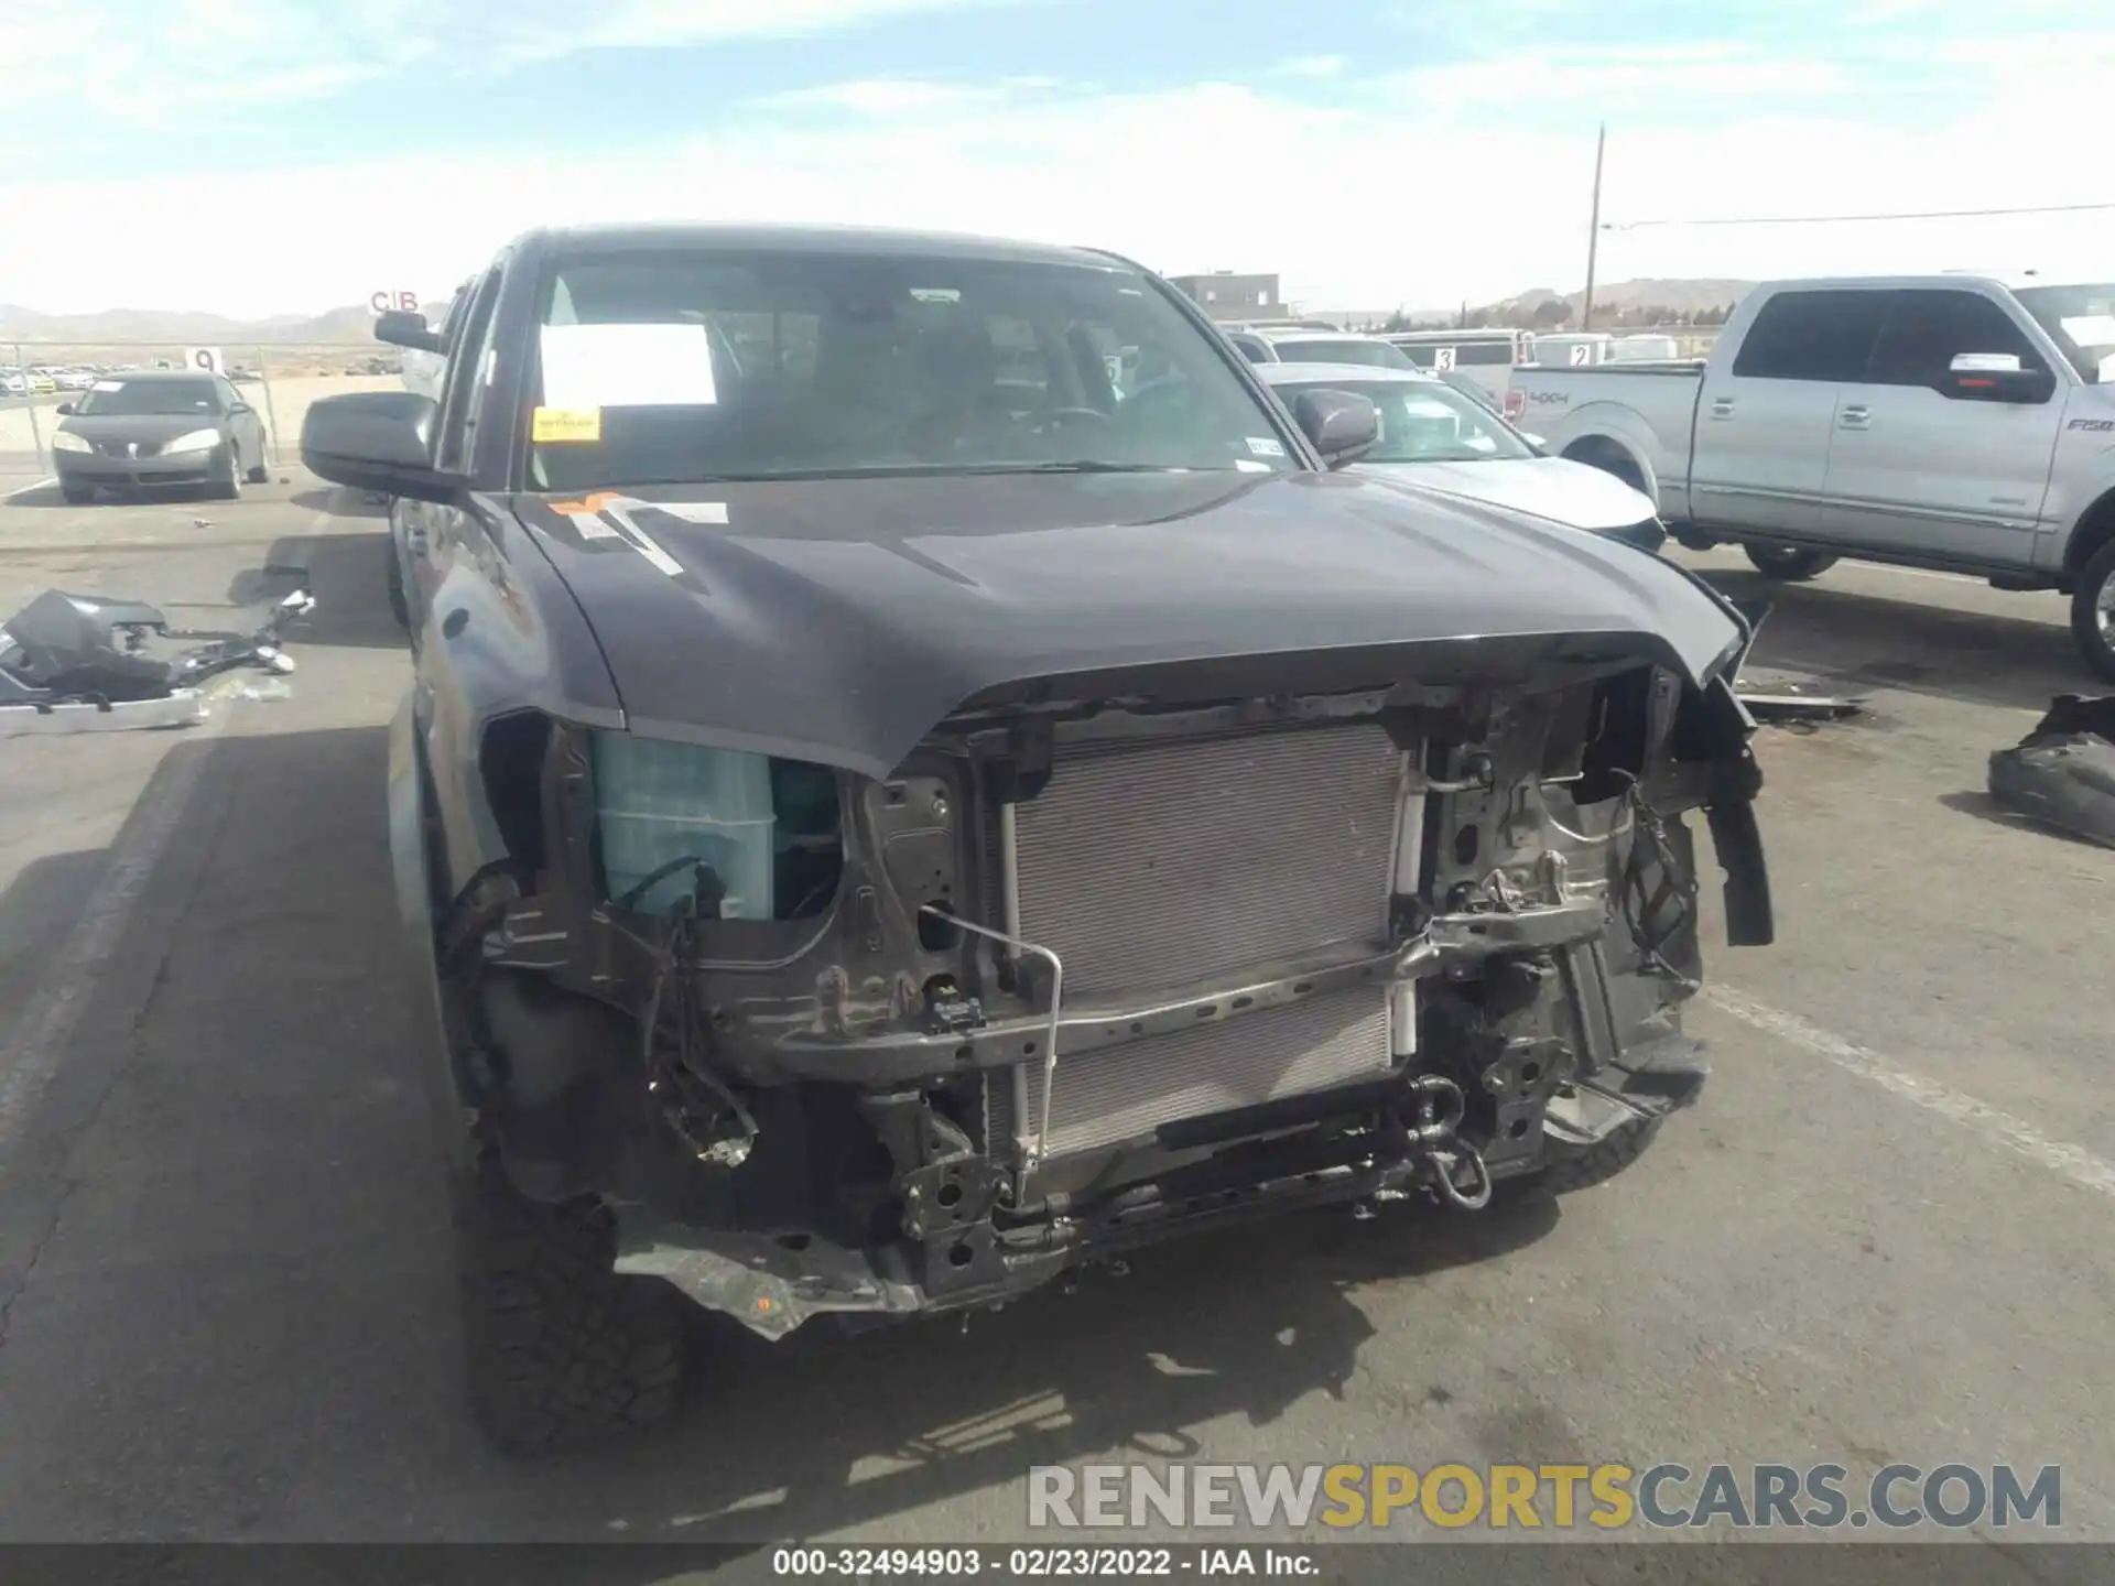
[[[2062,1535],[2115,1539],[2115,852],[1982,795],[2094,691],[2056,596],[1772,590],[1755,672],[1868,713],[1762,734],[1779,943],[1711,956],[1713,1081],[1612,1184],[1208,1237],[967,1328],[702,1320],[677,1425],[512,1463],[457,1383],[383,835],[406,664],[360,512],[298,472],[0,505],[6,611],[321,601],[288,700],[0,740],[0,1539],[1003,1542],[1030,1463],[1138,1451],[2056,1463]]]

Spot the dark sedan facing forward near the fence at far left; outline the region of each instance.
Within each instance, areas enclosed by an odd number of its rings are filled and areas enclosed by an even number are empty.
[[[61,402],[51,461],[59,493],[87,501],[97,486],[209,484],[237,497],[262,484],[264,421],[220,374],[154,370],[95,381]]]

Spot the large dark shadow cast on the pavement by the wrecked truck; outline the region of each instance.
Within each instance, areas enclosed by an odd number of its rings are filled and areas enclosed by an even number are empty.
[[[209,761],[34,1121],[72,1142],[44,1184],[63,1218],[51,1199],[0,1349],[8,1535],[577,1542],[624,1520],[757,1548],[988,1489],[1007,1489],[1013,1529],[1030,1463],[1195,1455],[1212,1421],[1341,1398],[1373,1336],[1360,1288],[1500,1258],[1557,1222],[1533,1195],[1261,1222],[967,1328],[814,1324],[770,1345],[698,1313],[675,1423],[501,1459],[467,1415],[408,1049],[385,730],[180,753]],[[630,1575],[624,1552],[603,1580]]]

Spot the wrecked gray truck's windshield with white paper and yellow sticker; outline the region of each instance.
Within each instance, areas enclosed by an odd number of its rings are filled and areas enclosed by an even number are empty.
[[[1123,266],[586,256],[539,319],[541,491],[1299,465],[1218,340]]]

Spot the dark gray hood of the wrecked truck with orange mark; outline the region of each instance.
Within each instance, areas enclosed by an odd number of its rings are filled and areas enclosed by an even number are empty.
[[[1284,656],[1292,689],[1299,656],[1546,639],[1700,681],[1747,639],[1629,546],[1347,474],[785,480],[512,510],[635,732],[867,776],[1043,677]]]

